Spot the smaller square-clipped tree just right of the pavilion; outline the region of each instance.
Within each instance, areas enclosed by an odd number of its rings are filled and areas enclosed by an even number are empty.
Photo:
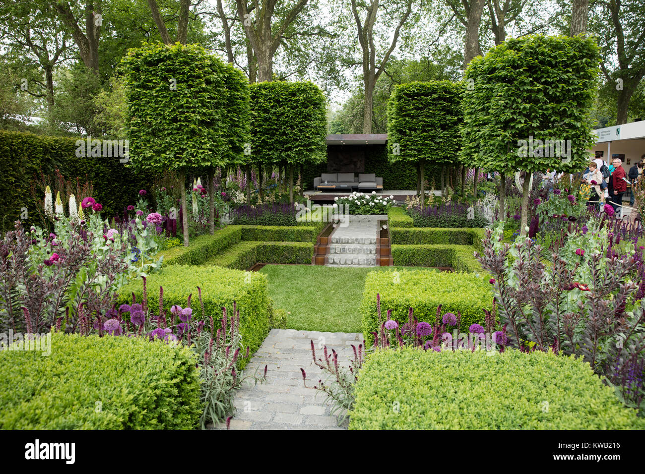
[[[401,84],[388,103],[388,159],[417,164],[422,208],[425,164],[441,166],[443,192],[444,167],[459,160],[462,88],[450,81]]]

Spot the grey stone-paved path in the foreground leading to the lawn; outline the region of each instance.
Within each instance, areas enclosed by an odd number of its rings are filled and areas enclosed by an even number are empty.
[[[321,339],[324,338],[324,339]],[[258,373],[268,366],[266,382],[245,386],[235,395],[237,414],[231,420],[231,430],[342,430],[348,421],[338,426],[337,417],[330,413],[331,404],[325,404],[324,393],[305,388],[300,371],[307,374],[307,386],[313,386],[323,376],[323,371],[313,365],[311,343],[316,356],[323,357],[319,342],[327,344],[339,353],[339,363],[347,366],[353,355],[352,347],[358,347],[362,335],[358,333],[323,333],[319,331],[296,331],[273,329],[262,346],[246,366],[246,373]],[[225,424],[217,426],[225,429]]]

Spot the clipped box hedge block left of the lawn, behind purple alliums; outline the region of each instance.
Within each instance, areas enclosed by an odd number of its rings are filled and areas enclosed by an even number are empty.
[[[250,347],[250,353],[260,347],[269,332],[268,281],[262,273],[240,272],[219,266],[164,266],[147,279],[148,305],[151,308],[159,306],[159,286],[163,286],[163,306],[168,315],[173,304],[185,307],[186,299],[192,293],[191,307],[195,321],[201,319],[197,286],[202,290],[206,317],[211,315],[215,321],[221,319],[223,306],[232,314],[233,301],[237,302],[240,332],[244,346]],[[137,302],[141,302],[143,281],[123,286],[119,290],[118,304],[132,302],[133,292]],[[242,366],[246,362],[244,360]]]

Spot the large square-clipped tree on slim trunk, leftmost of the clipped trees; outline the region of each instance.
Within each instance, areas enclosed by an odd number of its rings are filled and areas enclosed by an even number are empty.
[[[123,68],[130,158],[143,170],[179,174],[188,246],[186,172],[235,163],[243,155],[248,81],[197,44],[144,44],[128,51]]]

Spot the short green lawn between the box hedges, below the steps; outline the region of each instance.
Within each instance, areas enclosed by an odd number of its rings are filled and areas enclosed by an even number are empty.
[[[394,268],[404,267],[266,265],[260,272],[269,279],[269,296],[275,307],[287,311],[287,328],[355,333],[361,332],[359,306],[365,277],[368,272]]]

